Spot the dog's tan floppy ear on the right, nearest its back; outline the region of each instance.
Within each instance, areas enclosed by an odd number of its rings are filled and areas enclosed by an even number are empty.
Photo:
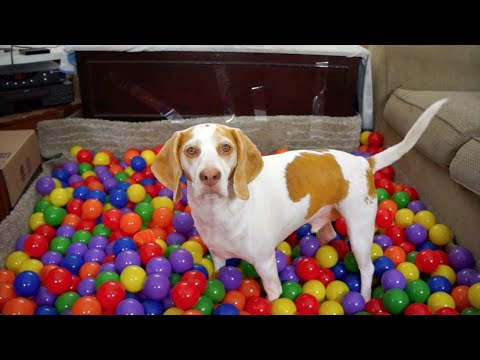
[[[254,143],[240,129],[233,129],[233,137],[237,144],[237,166],[233,172],[233,191],[238,198],[247,200],[250,197],[248,184],[263,169],[263,159]]]

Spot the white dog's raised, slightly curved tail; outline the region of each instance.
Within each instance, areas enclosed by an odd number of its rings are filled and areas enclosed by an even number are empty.
[[[420,115],[415,124],[413,124],[402,142],[370,157],[369,162],[372,171],[375,172],[385,166],[391,165],[405,155],[417,143],[428,124],[430,124],[430,120],[433,119],[438,110],[440,110],[447,101],[448,99],[445,98],[430,105],[430,107]]]

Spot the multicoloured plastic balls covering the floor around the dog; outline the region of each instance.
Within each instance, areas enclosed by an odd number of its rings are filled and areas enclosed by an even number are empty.
[[[355,155],[383,150],[379,133],[362,132],[360,142]],[[190,214],[185,178],[174,203],[151,172],[159,149],[131,148],[116,159],[108,150],[73,146],[76,162],[36,180],[39,200],[25,219],[30,232],[0,269],[2,314],[480,314],[471,252],[446,251],[450,229],[413,187],[395,183],[392,166],[374,174],[372,299],[359,293],[358,266],[339,218],[328,244],[304,224],[278,245],[282,293],[270,302],[247,261],[229,259],[215,272]]]

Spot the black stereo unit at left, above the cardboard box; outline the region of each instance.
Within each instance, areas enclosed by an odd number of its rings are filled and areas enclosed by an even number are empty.
[[[0,116],[73,100],[73,85],[54,61],[0,66]]]

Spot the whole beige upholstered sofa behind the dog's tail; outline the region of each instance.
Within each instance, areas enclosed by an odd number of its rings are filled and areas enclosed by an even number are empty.
[[[480,46],[369,46],[375,129],[399,142],[434,101],[450,101],[395,164],[480,266]]]

